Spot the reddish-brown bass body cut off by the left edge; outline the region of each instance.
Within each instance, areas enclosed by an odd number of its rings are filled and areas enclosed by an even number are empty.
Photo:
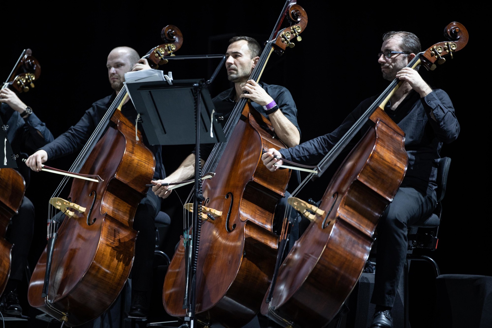
[[[24,198],[26,183],[13,168],[0,168],[0,295],[10,275],[12,244],[5,240],[5,231]]]

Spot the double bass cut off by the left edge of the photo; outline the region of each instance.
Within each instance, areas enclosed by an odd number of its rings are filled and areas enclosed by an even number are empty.
[[[28,92],[34,88],[34,80],[39,78],[41,66],[32,56],[31,49],[25,49],[1,89],[9,88],[15,93]],[[8,129],[3,126],[2,129]],[[6,138],[4,140],[6,143]],[[6,160],[7,154],[3,154]],[[3,161],[2,161],[3,162]],[[7,164],[6,161],[4,161]],[[10,275],[12,244],[5,240],[5,232],[12,217],[19,210],[26,182],[23,176],[13,168],[0,167],[0,295],[5,289]]]

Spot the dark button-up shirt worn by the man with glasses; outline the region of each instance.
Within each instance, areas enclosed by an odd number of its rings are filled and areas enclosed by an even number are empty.
[[[377,97],[362,101],[335,131],[293,148],[281,149],[280,153],[285,159],[296,163],[318,164]],[[401,187],[412,187],[430,196],[437,187],[437,162],[442,144],[455,140],[460,133],[453,104],[443,90],[436,89],[424,98],[412,90],[396,110],[390,107],[388,102],[385,112],[405,132],[408,167]],[[431,112],[436,121],[431,118]],[[366,128],[359,131],[348,149],[353,148],[369,126],[368,123]]]

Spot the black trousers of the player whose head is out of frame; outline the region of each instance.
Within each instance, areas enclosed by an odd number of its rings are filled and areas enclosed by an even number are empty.
[[[24,197],[18,214],[12,217],[5,234],[5,239],[14,245],[9,279],[22,280],[33,233],[34,205],[28,197]]]

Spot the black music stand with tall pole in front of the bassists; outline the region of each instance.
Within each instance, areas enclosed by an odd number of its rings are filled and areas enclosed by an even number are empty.
[[[207,89],[217,75],[220,67],[225,63],[225,55],[202,56],[172,56],[168,60],[210,59],[221,58],[219,65],[208,80],[173,80],[157,82],[128,82],[126,89],[131,96],[137,113],[142,118],[142,127],[147,139],[153,145],[180,145],[195,144],[196,154],[200,154],[200,143],[217,143],[225,141],[224,132],[214,114],[215,108]],[[177,115],[179,114],[179,115]],[[194,120],[193,120],[194,118]],[[195,127],[195,136],[189,133]],[[185,245],[185,295],[184,308],[188,309],[184,317],[184,327],[195,325],[196,304],[196,265],[198,261],[198,247],[201,214],[202,180],[200,179],[201,165],[199,156],[195,156],[195,189],[193,197],[193,236],[191,245]]]

